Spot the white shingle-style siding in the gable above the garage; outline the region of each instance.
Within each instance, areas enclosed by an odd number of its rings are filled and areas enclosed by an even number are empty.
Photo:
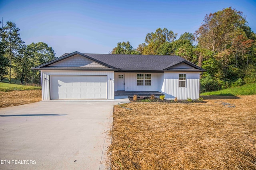
[[[50,64],[49,66],[60,66],[60,67],[105,67],[101,64],[95,63],[94,61],[87,59],[80,55],[74,55],[67,59],[61,60],[57,63]]]

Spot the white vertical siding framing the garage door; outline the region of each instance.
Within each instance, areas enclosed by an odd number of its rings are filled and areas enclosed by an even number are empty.
[[[101,75],[107,76],[107,98],[114,99],[114,71],[70,71],[70,70],[42,70],[42,100],[50,100],[49,75]],[[44,80],[44,78],[46,78]],[[111,79],[111,80],[110,80]]]

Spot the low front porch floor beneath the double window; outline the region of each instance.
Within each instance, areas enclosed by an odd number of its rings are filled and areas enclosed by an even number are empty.
[[[133,96],[134,94],[137,94],[138,96],[150,96],[151,94],[154,94],[155,96],[162,96],[164,95],[161,92],[158,91],[117,91],[115,92],[115,96]]]

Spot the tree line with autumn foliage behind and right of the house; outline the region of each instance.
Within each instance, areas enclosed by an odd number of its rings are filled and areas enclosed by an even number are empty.
[[[111,54],[179,55],[207,70],[201,75],[201,90],[215,91],[256,82],[256,34],[243,12],[224,8],[207,14],[195,33],[177,33],[166,28],[148,33],[136,49],[119,42]]]

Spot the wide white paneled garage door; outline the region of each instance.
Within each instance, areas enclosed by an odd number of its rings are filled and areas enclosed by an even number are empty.
[[[50,76],[51,99],[107,99],[107,76]]]

